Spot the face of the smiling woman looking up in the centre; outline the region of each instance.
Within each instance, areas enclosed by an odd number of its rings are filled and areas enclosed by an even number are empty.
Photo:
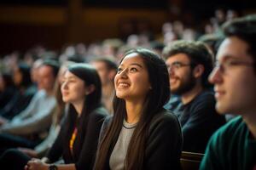
[[[116,95],[127,101],[143,100],[151,88],[148,82],[148,71],[143,59],[136,53],[128,54],[119,65],[118,73],[114,78]]]

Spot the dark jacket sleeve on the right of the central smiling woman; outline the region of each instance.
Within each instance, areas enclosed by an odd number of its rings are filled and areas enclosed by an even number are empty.
[[[182,144],[177,117],[172,113],[160,114],[149,128],[145,169],[180,169]]]

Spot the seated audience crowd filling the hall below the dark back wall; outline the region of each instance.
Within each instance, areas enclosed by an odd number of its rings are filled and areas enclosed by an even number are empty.
[[[216,20],[3,58],[1,169],[256,168],[256,15]]]

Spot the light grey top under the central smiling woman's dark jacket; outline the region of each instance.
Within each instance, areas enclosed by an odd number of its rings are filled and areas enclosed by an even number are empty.
[[[124,169],[125,157],[128,146],[130,144],[132,133],[137,123],[130,124],[124,120],[123,127],[119,133],[119,139],[114,145],[113,152],[111,153],[109,166],[112,170]]]

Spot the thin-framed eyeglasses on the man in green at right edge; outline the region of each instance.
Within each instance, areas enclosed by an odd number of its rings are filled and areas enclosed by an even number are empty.
[[[247,61],[238,61],[238,60],[226,60],[224,62],[216,61],[214,64],[214,69],[219,69],[222,73],[230,70],[235,66],[253,66],[254,64]]]

